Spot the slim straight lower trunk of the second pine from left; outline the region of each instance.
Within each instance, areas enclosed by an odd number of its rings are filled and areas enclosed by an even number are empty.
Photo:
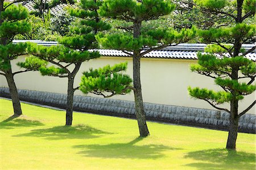
[[[73,97],[74,97],[74,78],[73,76],[68,77],[68,98],[67,98],[67,109],[66,109],[66,126],[72,125],[73,120]]]

